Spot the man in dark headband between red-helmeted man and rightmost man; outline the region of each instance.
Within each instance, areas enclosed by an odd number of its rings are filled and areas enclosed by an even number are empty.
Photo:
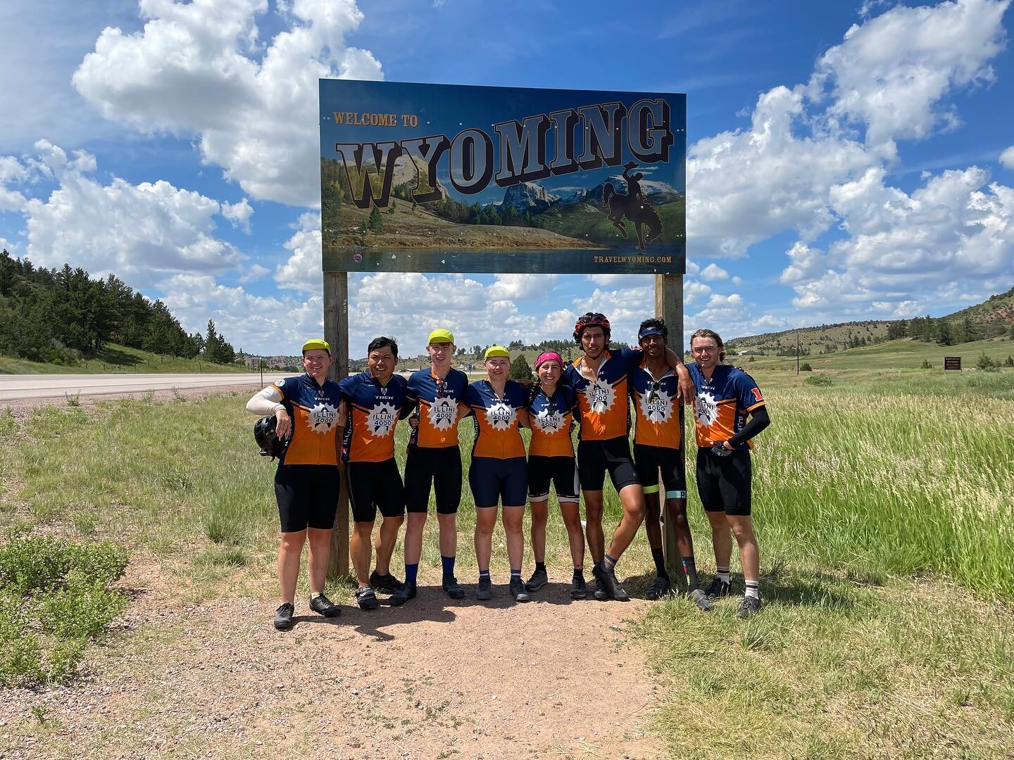
[[[644,488],[645,532],[655,561],[656,578],[648,587],[648,599],[669,593],[671,582],[662,552],[661,499],[658,474],[661,470],[665,507],[676,534],[682,556],[687,593],[701,609],[713,607],[701,590],[694,558],[694,540],[686,522],[686,474],[683,465],[682,419],[676,395],[678,378],[665,358],[669,330],[662,319],[645,319],[638,328],[638,344],[644,361],[631,373],[631,400],[634,402],[634,463]]]

